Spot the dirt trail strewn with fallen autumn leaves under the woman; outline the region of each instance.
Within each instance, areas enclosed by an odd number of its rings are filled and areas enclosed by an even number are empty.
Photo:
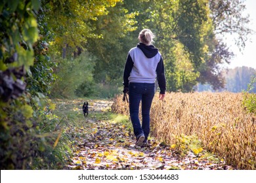
[[[75,101],[79,106],[83,101]],[[73,101],[74,103],[74,101]],[[67,131],[75,139],[74,158],[67,169],[232,169],[223,161],[189,152],[179,156],[170,146],[150,140],[150,146],[135,146],[135,137],[125,125],[96,120],[96,112],[110,108],[110,101],[91,101],[83,125]],[[83,116],[81,109],[77,115]]]

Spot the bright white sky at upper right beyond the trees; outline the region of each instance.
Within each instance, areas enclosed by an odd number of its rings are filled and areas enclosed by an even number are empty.
[[[234,52],[235,56],[230,61],[230,64],[226,65],[227,68],[247,66],[256,69],[256,1],[245,0],[244,3],[246,6],[245,13],[249,14],[249,27],[255,33],[249,36],[250,41],[245,43],[243,53],[239,51],[237,46],[231,45],[230,49]]]

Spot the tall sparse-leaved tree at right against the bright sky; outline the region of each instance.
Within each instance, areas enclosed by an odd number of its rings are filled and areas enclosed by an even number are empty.
[[[251,34],[251,29],[247,27],[249,16],[243,14],[244,1],[210,0],[209,8],[211,9],[210,17],[213,21],[215,38],[213,41],[209,41],[207,45],[214,45],[214,47],[209,54],[209,59],[200,68],[201,74],[198,82],[211,84],[214,90],[220,90],[224,88],[224,78],[221,75],[219,65],[229,63],[230,59],[234,57],[233,52],[226,46],[222,38],[228,34],[236,35],[234,41],[242,50],[248,35]]]

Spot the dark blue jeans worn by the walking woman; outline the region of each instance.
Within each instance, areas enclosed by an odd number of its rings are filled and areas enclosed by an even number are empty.
[[[144,142],[150,133],[150,108],[155,94],[154,83],[131,82],[129,84],[129,110],[133,124],[133,131],[138,139],[140,135],[145,136]],[[141,105],[142,125],[139,120],[139,105]]]

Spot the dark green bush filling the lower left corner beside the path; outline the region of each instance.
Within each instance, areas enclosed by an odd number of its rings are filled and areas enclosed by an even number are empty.
[[[5,105],[1,103],[1,114],[8,116],[1,121],[1,169],[62,168],[70,156],[70,147],[65,145],[68,139],[62,136],[56,148],[54,142],[64,122],[53,116],[54,105],[49,101],[33,110],[28,100],[24,95]]]

